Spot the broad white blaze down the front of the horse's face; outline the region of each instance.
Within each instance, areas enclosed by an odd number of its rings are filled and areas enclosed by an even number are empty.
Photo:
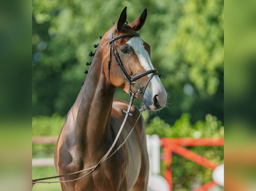
[[[148,70],[154,70],[154,67],[152,65],[150,56],[148,52],[145,49],[145,46],[143,45],[144,42],[141,40],[140,37],[132,37],[127,43],[130,47],[132,47],[133,51],[137,55],[141,66],[145,69],[145,71]],[[148,74],[148,77],[150,77],[151,74]],[[154,89],[153,89],[154,87]],[[155,75],[151,79],[151,90],[152,90],[152,95],[155,95],[154,90],[162,88],[162,84],[160,81],[160,78]]]

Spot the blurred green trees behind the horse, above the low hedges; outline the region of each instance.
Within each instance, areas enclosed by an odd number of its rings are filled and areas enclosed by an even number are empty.
[[[170,104],[158,116],[173,124],[183,112],[193,113],[192,122],[211,113],[224,121],[223,0],[32,3],[33,115],[68,113],[85,81],[89,52],[127,6],[128,23],[148,9],[140,33],[151,46],[152,62],[162,74]],[[125,94],[117,90],[115,97]]]

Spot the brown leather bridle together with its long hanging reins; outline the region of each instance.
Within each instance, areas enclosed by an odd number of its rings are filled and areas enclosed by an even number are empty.
[[[116,62],[117,62],[117,64],[118,64],[118,66],[119,66],[119,68],[120,68],[122,74],[124,75],[125,79],[128,81],[128,83],[129,83],[129,85],[130,85],[130,86],[129,86],[129,91],[130,91],[131,98],[130,98],[130,102],[129,102],[128,109],[127,109],[127,110],[123,110],[123,112],[125,112],[125,117],[124,117],[123,123],[122,123],[122,125],[121,125],[121,127],[120,127],[120,129],[119,129],[119,131],[118,131],[118,133],[117,133],[117,135],[116,135],[116,138],[115,138],[114,142],[112,143],[111,147],[109,148],[108,152],[101,158],[101,160],[100,160],[100,161],[97,163],[97,165],[95,165],[95,166],[92,166],[92,167],[90,167],[90,168],[86,168],[86,169],[83,169],[83,170],[80,170],[80,171],[68,173],[68,174],[62,174],[62,175],[58,175],[58,176],[51,176],[51,177],[45,177],[45,178],[38,178],[38,179],[34,179],[34,180],[32,179],[32,185],[34,185],[35,183],[60,183],[60,182],[71,182],[71,181],[76,181],[76,180],[79,180],[79,179],[81,179],[81,178],[84,178],[85,176],[88,176],[89,174],[91,174],[91,173],[93,173],[95,170],[97,170],[97,169],[100,167],[100,165],[101,165],[104,161],[106,161],[108,158],[110,158],[111,156],[113,156],[113,155],[123,146],[123,144],[126,142],[126,140],[129,138],[129,136],[131,135],[133,129],[135,128],[135,125],[137,124],[137,122],[138,122],[138,120],[139,120],[139,118],[140,118],[140,116],[141,116],[141,114],[142,114],[142,111],[145,110],[145,109],[144,109],[144,104],[143,104],[142,108],[139,110],[139,111],[140,111],[140,114],[139,114],[139,116],[138,116],[138,118],[137,118],[137,120],[136,120],[134,126],[132,127],[132,129],[130,130],[129,134],[128,134],[127,137],[125,138],[125,140],[118,146],[118,148],[117,148],[111,155],[109,155],[109,154],[111,153],[111,151],[113,150],[113,148],[114,148],[114,146],[115,146],[115,144],[116,144],[116,142],[117,142],[117,140],[118,140],[118,137],[119,137],[120,134],[121,134],[121,131],[122,131],[124,125],[125,125],[125,122],[126,122],[126,120],[127,120],[128,115],[132,116],[132,113],[130,113],[130,109],[131,109],[131,106],[132,106],[132,104],[133,104],[133,100],[134,100],[134,98],[135,98],[135,95],[138,94],[138,93],[141,93],[141,97],[142,97],[142,99],[143,99],[143,95],[144,95],[144,93],[145,93],[145,89],[146,89],[148,83],[150,82],[150,80],[153,78],[154,75],[158,75],[157,70],[148,70],[148,71],[142,72],[142,73],[140,73],[140,74],[138,74],[138,75],[135,75],[135,76],[133,76],[133,77],[130,77],[130,76],[128,75],[128,73],[126,72],[126,70],[125,70],[125,68],[124,68],[124,66],[123,66],[123,64],[122,64],[122,62],[121,62],[121,60],[120,60],[120,57],[119,57],[118,52],[117,52],[117,50],[116,50],[116,48],[115,48],[115,45],[114,45],[114,41],[117,40],[117,39],[120,39],[120,38],[125,38],[125,37],[139,37],[139,36],[140,36],[139,33],[131,33],[131,34],[118,35],[118,36],[116,36],[116,37],[113,38],[112,28],[110,29],[110,32],[109,32],[109,39],[110,39],[110,40],[109,40],[109,44],[110,44],[110,55],[109,55],[109,60],[108,60],[109,81],[110,81],[110,65],[111,65],[111,53],[112,53],[112,54],[114,55],[114,57],[115,57],[115,60],[116,60]],[[146,75],[148,75],[148,74],[151,74],[151,75],[149,76],[149,78],[148,78],[146,84],[144,85],[144,88],[141,89],[141,88],[140,88],[140,85],[139,85],[138,83],[134,82],[134,81],[137,80],[137,79],[139,79],[139,78],[141,78],[141,77],[143,77],[143,76],[146,76]],[[159,75],[158,75],[158,76],[159,76]],[[110,83],[111,83],[111,81],[110,81]],[[136,84],[136,85],[139,87],[138,92],[136,92],[136,93],[133,93],[133,92],[132,92],[132,90],[131,90],[132,84]],[[48,180],[48,179],[53,179],[53,178],[60,178],[60,177],[64,177],[64,176],[70,176],[70,175],[78,174],[78,173],[81,173],[81,172],[84,172],[84,171],[88,171],[88,170],[91,170],[91,171],[88,172],[87,174],[85,174],[85,175],[83,175],[83,176],[81,176],[81,177],[79,177],[79,178],[73,179],[73,180],[50,181],[50,182],[49,182],[49,181],[41,181],[41,180]]]

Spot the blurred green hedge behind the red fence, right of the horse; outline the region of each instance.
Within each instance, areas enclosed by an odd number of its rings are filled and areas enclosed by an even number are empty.
[[[204,138],[224,137],[224,126],[215,116],[207,114],[205,120],[198,120],[195,124],[190,122],[190,114],[183,113],[173,126],[165,123],[160,117],[154,117],[146,127],[147,134],[158,134],[160,137],[191,137]],[[224,147],[195,146],[187,147],[189,150],[202,155],[216,164],[224,163]],[[166,166],[162,163],[162,172]],[[193,161],[172,153],[172,182],[174,190],[195,189],[212,180],[212,170]],[[221,189],[221,188],[219,188]]]

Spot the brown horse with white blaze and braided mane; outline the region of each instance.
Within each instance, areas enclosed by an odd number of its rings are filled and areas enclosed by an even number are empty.
[[[147,190],[149,158],[145,122],[135,106],[114,99],[116,88],[121,88],[140,99],[146,110],[160,110],[165,106],[167,93],[152,65],[150,46],[137,33],[146,17],[147,9],[144,9],[128,25],[125,7],[100,40],[87,78],[67,114],[54,151],[57,174],[78,171],[60,177],[63,191]],[[120,133],[119,128],[126,115],[128,117]],[[129,132],[130,137],[122,145]],[[121,148],[115,153],[111,151],[111,157],[84,177],[87,168],[95,167],[104,154],[110,154],[110,147]]]

